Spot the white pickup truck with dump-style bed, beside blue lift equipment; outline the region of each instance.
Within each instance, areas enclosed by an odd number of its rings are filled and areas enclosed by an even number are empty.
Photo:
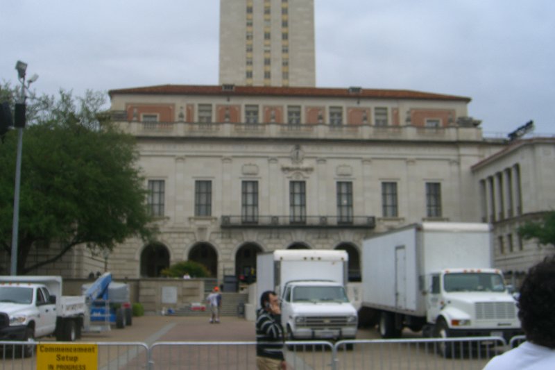
[[[87,306],[84,296],[62,296],[60,276],[0,276],[0,340],[33,341],[80,337]],[[32,355],[33,346],[22,346]]]

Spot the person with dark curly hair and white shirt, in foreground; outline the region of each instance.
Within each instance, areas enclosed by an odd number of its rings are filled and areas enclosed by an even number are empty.
[[[555,369],[555,255],[529,269],[518,297],[527,342],[491,359],[484,370]]]

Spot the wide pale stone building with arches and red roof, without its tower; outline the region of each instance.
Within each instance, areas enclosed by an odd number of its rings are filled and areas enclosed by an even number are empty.
[[[471,167],[504,147],[481,137],[461,96],[164,85],[110,97],[161,230],[153,245],[115,249],[117,276],[196,260],[222,280],[255,271],[257,253],[318,248],[348,251],[357,280],[373,233],[477,221]]]

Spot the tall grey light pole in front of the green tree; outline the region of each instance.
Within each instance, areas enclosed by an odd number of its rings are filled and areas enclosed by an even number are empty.
[[[17,77],[22,83],[22,92],[19,101],[16,103],[15,126],[17,128],[17,158],[15,160],[15,187],[13,194],[13,223],[12,223],[12,260],[10,274],[17,275],[17,237],[19,233],[19,188],[21,187],[22,176],[22,149],[23,149],[23,129],[25,127],[25,99],[26,87],[37,81],[38,76],[33,75],[25,86],[25,73],[27,70],[26,63],[21,60],[15,65],[17,69]],[[19,107],[18,107],[19,105]],[[19,109],[18,109],[19,108]]]

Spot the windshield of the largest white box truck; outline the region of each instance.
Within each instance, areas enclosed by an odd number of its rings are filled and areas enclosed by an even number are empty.
[[[445,292],[504,292],[505,285],[499,274],[461,273],[445,274]]]

